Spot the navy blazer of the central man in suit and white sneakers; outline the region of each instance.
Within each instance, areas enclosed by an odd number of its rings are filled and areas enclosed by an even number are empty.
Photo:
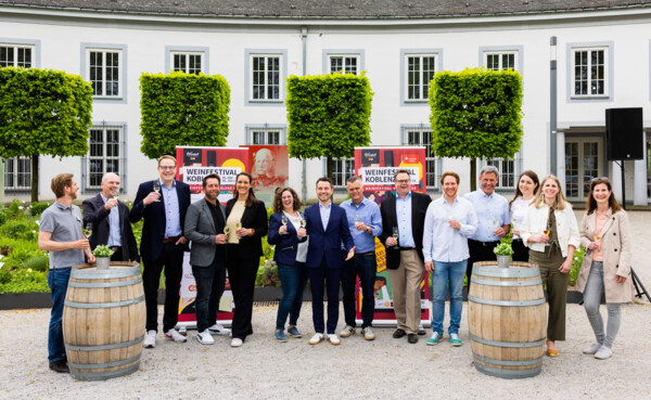
[[[350,230],[348,229],[348,219],[346,211],[334,203],[331,203],[330,219],[328,227],[323,231],[319,203],[305,209],[305,220],[307,221],[307,233],[309,234],[309,244],[307,246],[307,267],[317,268],[321,266],[323,255],[326,262],[330,268],[343,268],[346,254],[344,248],[349,251],[355,247]]]

